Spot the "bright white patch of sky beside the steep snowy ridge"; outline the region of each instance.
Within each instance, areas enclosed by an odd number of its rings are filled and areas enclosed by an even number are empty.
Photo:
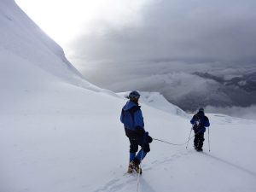
[[[146,0],[15,0],[44,32],[61,46],[80,32],[91,32],[94,20],[113,26],[136,25]],[[64,46],[65,47],[65,46]]]

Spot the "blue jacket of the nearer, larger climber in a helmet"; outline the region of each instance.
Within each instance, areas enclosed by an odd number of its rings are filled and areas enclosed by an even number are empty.
[[[141,107],[135,102],[126,102],[124,108],[122,108],[120,120],[125,129],[131,131],[143,129],[144,131],[143,113]]]

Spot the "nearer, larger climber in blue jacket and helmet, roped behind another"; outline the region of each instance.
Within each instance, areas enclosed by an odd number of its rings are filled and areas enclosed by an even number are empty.
[[[128,172],[135,170],[142,173],[139,164],[150,151],[149,143],[152,142],[152,137],[148,136],[148,132],[144,130],[143,113],[138,105],[140,94],[134,90],[129,94],[129,101],[122,108],[120,120],[125,126],[125,135],[130,141],[130,163]],[[141,146],[138,151],[138,146]],[[137,154],[136,154],[137,153]]]

